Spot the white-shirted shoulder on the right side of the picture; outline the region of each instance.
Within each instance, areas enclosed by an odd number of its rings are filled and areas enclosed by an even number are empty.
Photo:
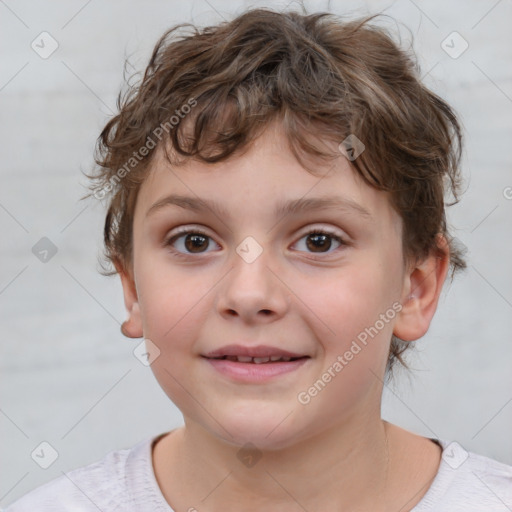
[[[466,451],[459,443],[443,448],[438,473],[414,512],[509,512],[512,466]]]

